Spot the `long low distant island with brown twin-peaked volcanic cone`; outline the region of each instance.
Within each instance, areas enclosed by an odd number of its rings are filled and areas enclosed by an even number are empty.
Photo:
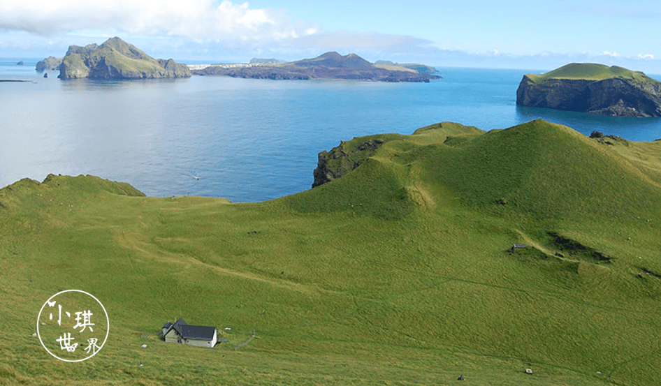
[[[356,54],[341,55],[326,52],[313,59],[279,62],[275,59],[252,59],[250,64],[215,64],[191,70],[193,75],[226,75],[255,79],[308,80],[342,79],[379,82],[429,82],[440,79],[432,75],[435,68],[419,64],[419,68],[393,64],[372,64]]]

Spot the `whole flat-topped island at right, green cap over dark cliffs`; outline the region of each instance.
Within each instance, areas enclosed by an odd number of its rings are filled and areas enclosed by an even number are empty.
[[[613,117],[661,117],[661,82],[639,71],[572,63],[523,75],[516,104]]]

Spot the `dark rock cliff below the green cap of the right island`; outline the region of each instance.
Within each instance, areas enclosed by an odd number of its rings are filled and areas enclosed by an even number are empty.
[[[524,75],[516,90],[516,104],[616,117],[661,117],[661,83],[623,77],[537,83]]]

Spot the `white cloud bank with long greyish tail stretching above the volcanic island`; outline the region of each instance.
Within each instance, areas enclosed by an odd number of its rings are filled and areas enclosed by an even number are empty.
[[[174,8],[163,3],[152,10],[144,2],[133,0],[70,1],[56,8],[27,0],[0,0],[0,31],[23,32],[49,40],[61,39],[63,35],[68,35],[69,41],[87,36],[94,43],[115,35],[129,43],[152,36],[148,45],[154,48],[165,45],[163,40],[168,39],[180,47],[189,42],[205,48],[221,45],[245,51],[260,47],[282,47],[286,51],[298,47],[299,52],[317,49],[406,53],[425,52],[432,43],[377,32],[323,31],[314,23],[292,20],[284,10],[251,8],[247,2],[195,0],[191,7]],[[247,13],[258,13],[260,17],[245,20]]]

